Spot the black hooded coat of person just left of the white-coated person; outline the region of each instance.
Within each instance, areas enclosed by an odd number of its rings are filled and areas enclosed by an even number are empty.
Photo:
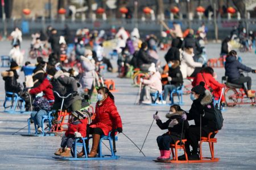
[[[166,59],[166,63],[173,60],[179,60],[180,61],[180,46],[182,44],[182,41],[180,39],[173,39],[172,40],[172,47],[168,50],[166,55],[164,56],[164,59]]]

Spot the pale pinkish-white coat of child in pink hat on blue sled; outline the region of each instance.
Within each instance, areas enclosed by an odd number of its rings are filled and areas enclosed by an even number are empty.
[[[162,93],[161,74],[159,72],[155,72],[149,80],[143,80],[143,84],[150,86],[151,89],[158,90],[159,93]]]

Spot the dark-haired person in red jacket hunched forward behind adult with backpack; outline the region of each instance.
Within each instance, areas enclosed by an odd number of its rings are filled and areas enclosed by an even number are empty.
[[[216,78],[216,77],[215,77]],[[221,90],[225,87],[224,84],[220,84],[214,78],[214,71],[211,67],[205,67],[200,73],[197,73],[196,77],[192,82],[192,86],[195,87],[200,84],[201,81],[205,82],[204,88],[212,92],[215,98],[220,98]],[[225,97],[222,94],[221,104],[224,105]]]

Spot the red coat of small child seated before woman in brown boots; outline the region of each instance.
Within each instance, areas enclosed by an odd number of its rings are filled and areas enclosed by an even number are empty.
[[[68,135],[74,135],[75,132],[80,132],[82,137],[85,137],[86,126],[87,126],[87,118],[70,123],[68,125],[68,130],[65,132],[65,136],[68,137]]]

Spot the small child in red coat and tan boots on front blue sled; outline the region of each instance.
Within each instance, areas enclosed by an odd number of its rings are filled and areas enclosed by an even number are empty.
[[[68,130],[61,138],[60,148],[54,153],[59,156],[71,156],[71,147],[75,138],[86,136],[87,118],[81,111],[74,111],[71,117],[71,123],[68,125]],[[67,148],[66,148],[67,147]]]

